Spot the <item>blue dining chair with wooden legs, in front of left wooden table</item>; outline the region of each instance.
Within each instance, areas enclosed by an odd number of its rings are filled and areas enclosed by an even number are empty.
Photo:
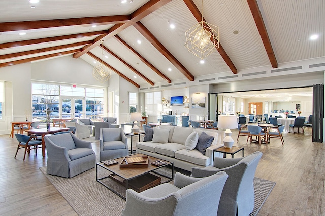
[[[17,140],[18,140],[18,146],[17,146],[17,151],[15,154],[15,158],[17,156],[18,150],[25,148],[25,153],[24,153],[24,159],[26,157],[26,152],[28,151],[28,154],[30,150],[34,149],[34,154],[37,154],[37,149],[42,148],[42,141],[41,140],[33,140],[33,137],[24,135],[24,134],[15,134]],[[40,146],[39,146],[40,145]]]

